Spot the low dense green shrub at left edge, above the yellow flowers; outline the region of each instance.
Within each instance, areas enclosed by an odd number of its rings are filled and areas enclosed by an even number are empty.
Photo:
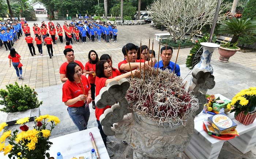
[[[15,85],[6,85],[7,90],[0,90],[0,104],[4,105],[0,111],[11,113],[18,111],[25,111],[33,108],[38,108],[42,105],[42,101],[39,102],[37,99],[37,92],[31,89],[26,84],[19,86],[17,82]]]

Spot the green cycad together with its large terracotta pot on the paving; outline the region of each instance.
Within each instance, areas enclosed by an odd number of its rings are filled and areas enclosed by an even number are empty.
[[[256,24],[251,19],[237,19],[235,17],[232,17],[231,19],[224,22],[219,27],[219,33],[228,33],[232,34],[232,40],[227,44],[222,44],[221,47],[219,47],[219,61],[221,62],[229,62],[229,57],[233,56],[237,51],[240,50],[239,47],[237,47],[238,38],[240,36],[244,37],[252,37],[252,35],[256,34]]]

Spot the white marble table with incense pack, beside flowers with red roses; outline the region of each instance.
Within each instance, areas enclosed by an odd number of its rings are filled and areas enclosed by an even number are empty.
[[[100,158],[109,159],[98,127],[50,139],[50,142],[53,143],[48,151],[50,156],[56,158],[57,152],[60,152],[64,159],[71,159],[72,157],[79,158],[80,156],[84,156],[84,159],[86,159],[86,157],[91,158],[93,145],[89,132],[93,134]],[[8,159],[8,155],[4,156],[3,153],[0,153],[0,159]]]

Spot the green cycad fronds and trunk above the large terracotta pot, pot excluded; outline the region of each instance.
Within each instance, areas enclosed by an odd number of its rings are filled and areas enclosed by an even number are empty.
[[[230,41],[230,47],[235,47],[240,36],[250,38],[256,34],[256,23],[251,19],[241,20],[240,18],[237,19],[232,17],[225,21],[218,30],[221,34],[233,34],[232,40]]]

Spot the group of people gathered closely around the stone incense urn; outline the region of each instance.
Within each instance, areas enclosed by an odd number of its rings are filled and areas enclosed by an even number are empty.
[[[117,69],[112,67],[112,59],[108,54],[103,54],[99,58],[97,52],[91,50],[88,54],[88,62],[83,65],[80,61],[75,60],[74,50],[67,48],[64,50],[67,61],[60,67],[60,78],[61,81],[64,82],[62,101],[68,106],[70,118],[80,131],[87,129],[90,117],[89,104],[92,102],[98,128],[109,156],[114,155],[114,152],[107,147],[107,143],[110,143],[111,140],[104,134],[99,117],[107,108],[111,108],[111,106],[106,106],[101,109],[95,107],[95,96],[99,95],[101,88],[106,87],[111,81],[118,81],[131,76],[131,74],[141,77],[137,69],[140,66],[141,68],[145,68],[146,71],[149,71],[151,66],[158,66],[162,70],[168,68],[174,71],[173,66],[175,65],[170,61],[173,49],[169,46],[162,47],[162,60],[159,61],[159,64],[154,58],[154,51],[152,50],[150,54],[146,45],[139,48],[132,43],[128,43],[124,45],[122,52],[125,59],[118,63]],[[150,60],[151,58],[152,60]],[[144,63],[144,61],[147,62]],[[163,66],[165,66],[165,68],[163,68]],[[132,73],[130,68],[132,69]],[[180,67],[178,64],[176,64],[174,72],[177,76],[180,76]],[[88,79],[86,75],[89,75]],[[123,143],[126,142],[123,141]]]

